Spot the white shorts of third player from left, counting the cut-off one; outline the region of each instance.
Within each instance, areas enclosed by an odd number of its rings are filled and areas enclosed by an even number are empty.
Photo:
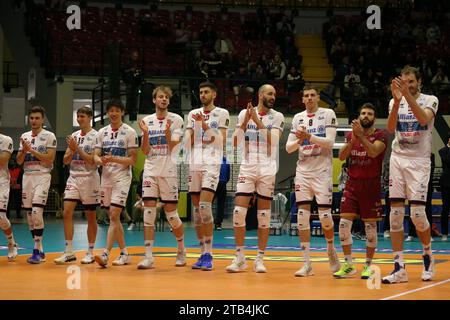
[[[64,190],[64,201],[81,201],[83,205],[100,203],[100,176],[94,173],[90,176],[69,176]]]

